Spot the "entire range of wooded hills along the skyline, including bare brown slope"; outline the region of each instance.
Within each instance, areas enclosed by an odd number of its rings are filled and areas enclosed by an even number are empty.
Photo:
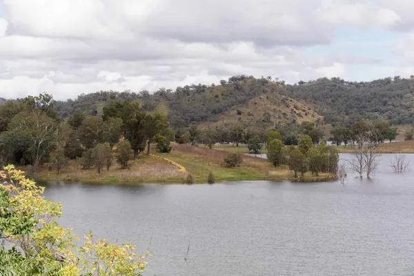
[[[387,77],[357,82],[322,78],[290,85],[271,81],[270,77],[238,75],[220,83],[192,84],[175,90],[161,88],[152,94],[100,91],[60,101],[57,110],[63,118],[75,112],[100,115],[103,106],[112,101],[111,96],[116,96],[118,101],[139,102],[146,112],[158,110],[168,115],[173,128],[317,120],[335,126],[360,119],[414,124],[413,79]]]

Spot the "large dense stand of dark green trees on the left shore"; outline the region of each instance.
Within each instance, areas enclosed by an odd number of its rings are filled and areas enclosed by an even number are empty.
[[[42,163],[61,170],[68,159],[82,158],[83,168],[109,169],[114,159],[128,167],[130,152],[137,157],[150,145],[169,152],[173,131],[168,119],[142,111],[139,103],[120,101],[112,95],[102,116],[76,112],[65,122],[50,95],[7,101],[0,106],[0,165]],[[121,141],[120,141],[121,140]],[[115,156],[114,156],[115,155]]]

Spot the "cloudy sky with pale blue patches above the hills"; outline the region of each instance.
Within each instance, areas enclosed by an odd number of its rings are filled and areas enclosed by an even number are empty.
[[[414,1],[0,0],[0,97],[414,75]]]

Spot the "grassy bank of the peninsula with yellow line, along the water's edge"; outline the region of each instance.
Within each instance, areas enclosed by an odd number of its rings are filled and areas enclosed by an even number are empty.
[[[228,145],[226,145],[228,146]],[[240,166],[228,168],[224,166],[223,159],[229,151],[221,149],[209,149],[190,145],[173,145],[172,152],[159,153],[153,151],[155,155],[166,157],[171,161],[186,168],[186,171],[179,170],[177,166],[165,159],[158,157],[139,157],[131,161],[128,170],[120,170],[119,166],[112,166],[110,170],[102,170],[99,174],[97,170],[82,170],[75,161],[70,162],[70,166],[61,171],[59,175],[55,170],[43,168],[39,172],[42,180],[59,179],[65,181],[110,181],[110,182],[146,182],[146,183],[181,183],[189,174],[195,177],[195,181],[206,183],[208,173],[211,171],[215,175],[216,181],[224,180],[289,180],[294,181],[293,172],[286,166],[275,168],[265,159],[259,157],[243,156]],[[319,176],[308,173],[303,181],[324,181],[331,179],[328,174]]]

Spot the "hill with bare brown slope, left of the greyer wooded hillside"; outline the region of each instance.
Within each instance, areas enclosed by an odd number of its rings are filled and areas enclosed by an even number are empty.
[[[148,91],[114,92],[100,91],[80,95],[77,99],[59,101],[57,111],[63,118],[75,112],[84,115],[101,115],[116,97],[117,101],[137,101],[145,112],[155,110],[168,115],[173,128],[185,128],[190,124],[230,126],[276,121],[315,121],[323,118],[313,108],[285,95],[277,89],[280,84],[268,79],[236,76],[221,85],[191,85],[177,87],[175,91],[160,89]]]

